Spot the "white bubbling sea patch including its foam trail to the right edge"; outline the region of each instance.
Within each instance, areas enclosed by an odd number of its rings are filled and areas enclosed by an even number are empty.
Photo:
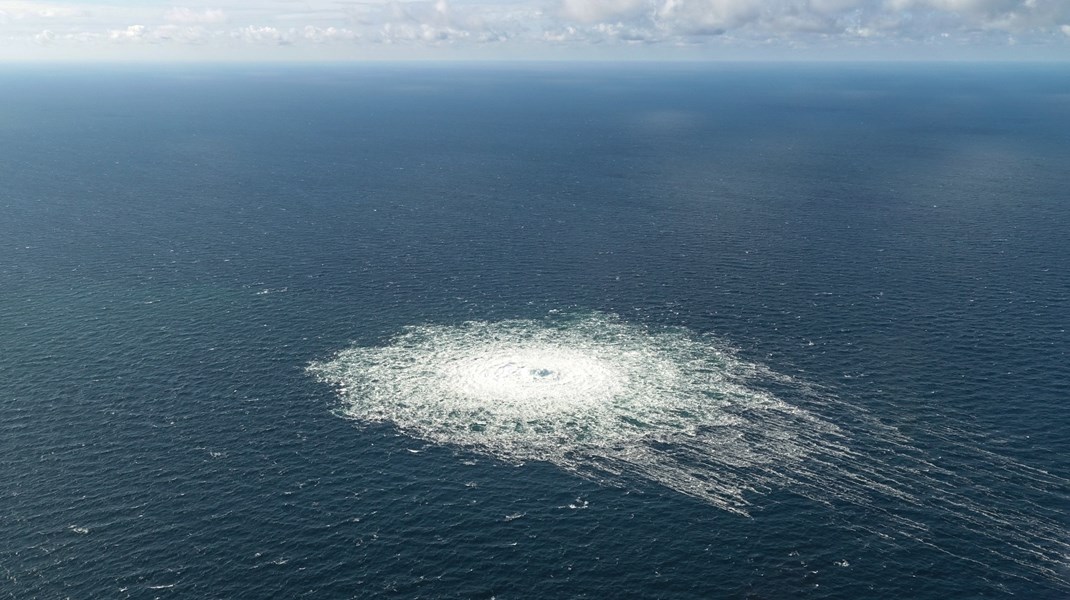
[[[434,444],[607,484],[653,481],[739,514],[784,490],[860,510],[868,517],[849,526],[878,539],[1070,585],[1070,534],[1045,508],[1066,479],[990,452],[953,424],[918,429],[918,444],[709,336],[597,312],[419,325],[308,370],[336,386],[342,415]],[[942,464],[933,446],[961,459]],[[944,543],[932,523],[958,533]]]

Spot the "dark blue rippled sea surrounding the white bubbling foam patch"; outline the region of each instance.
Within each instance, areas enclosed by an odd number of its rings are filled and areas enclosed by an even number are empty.
[[[0,593],[1065,597],[1067,165],[1065,67],[5,67]],[[716,335],[946,473],[745,518],[305,372],[559,311]]]

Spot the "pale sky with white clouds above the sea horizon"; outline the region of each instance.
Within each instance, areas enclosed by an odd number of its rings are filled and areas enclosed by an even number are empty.
[[[0,62],[1070,62],[1070,0],[0,0]]]

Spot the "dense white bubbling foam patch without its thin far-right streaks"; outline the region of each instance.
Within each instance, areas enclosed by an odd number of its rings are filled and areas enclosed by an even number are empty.
[[[783,464],[843,451],[837,427],[747,386],[758,368],[710,338],[586,314],[409,327],[310,370],[357,420],[602,480],[639,475],[746,512]]]

